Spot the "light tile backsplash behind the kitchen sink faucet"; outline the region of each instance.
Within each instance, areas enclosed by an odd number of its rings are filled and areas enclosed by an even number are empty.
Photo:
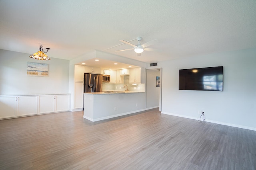
[[[145,84],[137,84],[137,85],[129,84],[129,77],[130,76],[124,76],[123,84],[112,84],[112,83],[103,82],[102,91],[118,91],[118,90],[124,91],[126,90],[126,87],[124,88],[124,85],[127,84],[127,88],[129,91],[145,92]]]

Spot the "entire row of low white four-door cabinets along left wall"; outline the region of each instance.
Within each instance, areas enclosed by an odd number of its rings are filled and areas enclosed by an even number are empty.
[[[0,96],[0,119],[70,111],[70,94]]]

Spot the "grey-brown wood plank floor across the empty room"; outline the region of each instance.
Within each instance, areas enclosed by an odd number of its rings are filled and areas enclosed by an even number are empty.
[[[158,108],[98,122],[82,116],[0,120],[0,169],[256,170],[256,131]]]

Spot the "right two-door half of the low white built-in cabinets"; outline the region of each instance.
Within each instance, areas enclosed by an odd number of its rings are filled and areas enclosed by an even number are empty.
[[[70,95],[39,95],[38,114],[70,111]]]

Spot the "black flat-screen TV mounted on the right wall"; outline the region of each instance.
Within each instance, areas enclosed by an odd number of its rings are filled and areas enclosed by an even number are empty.
[[[179,70],[179,90],[223,91],[223,66]]]

